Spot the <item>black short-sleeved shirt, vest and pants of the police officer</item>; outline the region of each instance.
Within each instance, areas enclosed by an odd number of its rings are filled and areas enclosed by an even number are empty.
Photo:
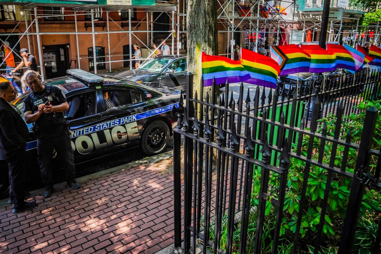
[[[50,101],[53,106],[67,102],[64,93],[59,88],[46,85],[42,92],[34,93],[32,91],[24,100],[24,112],[32,111],[35,113],[38,111],[38,105],[46,101]],[[37,134],[38,163],[40,164],[41,177],[46,189],[53,189],[51,161],[54,148],[62,156],[66,181],[68,183],[74,182],[74,155],[67,127],[64,123],[64,113],[42,113],[34,124]]]

